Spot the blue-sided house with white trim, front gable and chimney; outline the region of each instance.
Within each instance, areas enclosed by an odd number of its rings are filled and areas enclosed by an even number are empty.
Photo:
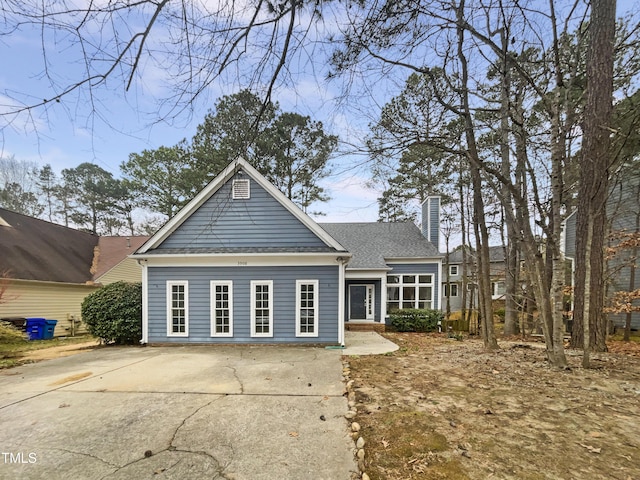
[[[439,202],[423,204],[423,232],[318,224],[235,160],[132,255],[142,343],[344,345],[345,325],[438,309]]]

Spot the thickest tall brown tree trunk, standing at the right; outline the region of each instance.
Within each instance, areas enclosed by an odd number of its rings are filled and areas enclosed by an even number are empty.
[[[582,325],[583,335],[586,337],[583,345],[589,345],[596,351],[606,351],[606,316],[603,312],[604,239],[611,164],[615,12],[615,0],[591,2],[587,101],[582,128],[582,161],[576,217],[574,326],[577,323],[578,328],[573,344],[580,344],[578,335]]]

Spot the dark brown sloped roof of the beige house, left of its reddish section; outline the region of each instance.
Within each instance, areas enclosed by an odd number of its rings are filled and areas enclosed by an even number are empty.
[[[91,281],[98,237],[0,208],[0,272],[48,282]]]

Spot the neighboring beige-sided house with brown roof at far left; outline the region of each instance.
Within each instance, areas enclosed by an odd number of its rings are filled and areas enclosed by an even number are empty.
[[[127,258],[147,237],[98,237],[0,208],[0,318],[57,320],[55,336],[84,331],[84,298],[117,280],[140,281]],[[127,245],[130,245],[129,247]]]

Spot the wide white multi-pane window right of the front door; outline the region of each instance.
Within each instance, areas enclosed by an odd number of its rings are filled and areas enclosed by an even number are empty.
[[[433,308],[433,275],[387,276],[387,313],[401,308]]]

